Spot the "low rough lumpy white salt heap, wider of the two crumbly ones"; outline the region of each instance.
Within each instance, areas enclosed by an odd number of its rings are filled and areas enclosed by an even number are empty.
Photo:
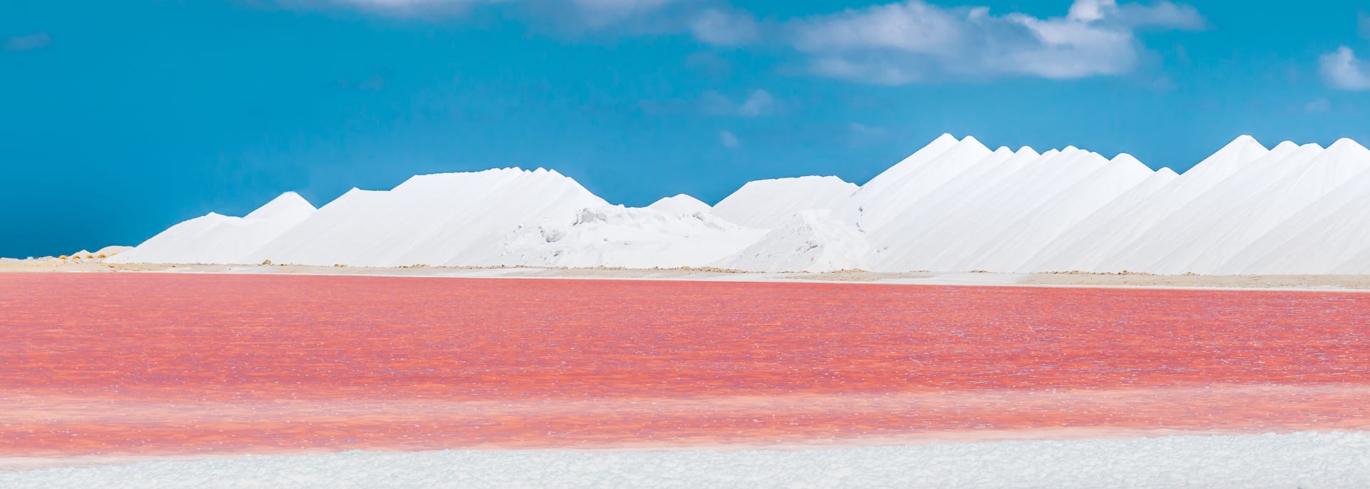
[[[482,266],[703,267],[764,234],[708,212],[600,205],[571,218],[545,218],[503,237]]]

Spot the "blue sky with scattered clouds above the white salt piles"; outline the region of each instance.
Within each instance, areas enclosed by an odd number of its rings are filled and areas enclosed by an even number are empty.
[[[1359,1],[0,3],[0,256],[285,190],[552,167],[610,201],[864,182],[941,133],[1185,170],[1370,142]],[[1365,62],[1363,62],[1365,59]]]

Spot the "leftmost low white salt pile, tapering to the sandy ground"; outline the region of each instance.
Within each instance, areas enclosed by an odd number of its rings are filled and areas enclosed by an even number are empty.
[[[242,218],[210,212],[153,236],[107,263],[253,263],[248,256],[292,230],[315,208],[286,192]],[[258,260],[256,263],[260,263]]]

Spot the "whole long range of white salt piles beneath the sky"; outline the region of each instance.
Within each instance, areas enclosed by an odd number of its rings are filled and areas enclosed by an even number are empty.
[[[210,214],[119,263],[723,267],[748,271],[1370,274],[1370,149],[1243,136],[1192,170],[944,134],[862,186],[756,181],[610,205],[556,171],[418,175],[315,210]]]

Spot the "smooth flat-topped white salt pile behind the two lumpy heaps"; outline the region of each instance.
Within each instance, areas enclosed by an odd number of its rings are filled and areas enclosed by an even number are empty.
[[[745,227],[775,229],[799,211],[834,210],[856,189],[837,177],[759,179],[721,200],[714,214]]]

